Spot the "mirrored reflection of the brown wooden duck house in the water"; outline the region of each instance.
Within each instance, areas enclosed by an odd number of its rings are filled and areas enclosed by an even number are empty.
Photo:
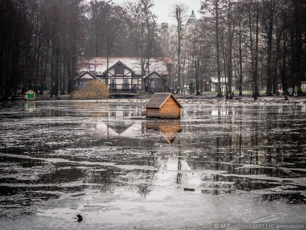
[[[156,144],[173,144],[177,138],[177,134],[182,132],[181,122],[155,122],[148,121],[146,123],[145,132]]]

